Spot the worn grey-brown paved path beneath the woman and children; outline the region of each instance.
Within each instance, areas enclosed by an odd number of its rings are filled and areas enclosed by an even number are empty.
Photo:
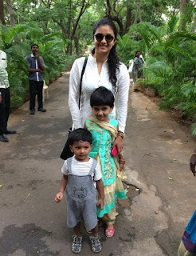
[[[72,255],[73,230],[66,226],[65,200],[54,196],[61,180],[59,158],[71,125],[69,75],[49,86],[47,112],[29,115],[29,102],[10,115],[10,142],[0,142],[0,255]],[[116,233],[105,238],[107,256],[175,256],[193,214],[195,179],[189,158],[195,147],[189,130],[155,103],[132,93],[123,154],[127,200],[117,204]],[[94,255],[83,229],[80,255]]]

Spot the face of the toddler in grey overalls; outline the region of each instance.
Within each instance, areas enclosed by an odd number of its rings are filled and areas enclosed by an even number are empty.
[[[75,154],[75,158],[80,162],[88,161],[88,154],[92,148],[92,145],[89,142],[74,142],[73,145],[70,145],[70,150]]]

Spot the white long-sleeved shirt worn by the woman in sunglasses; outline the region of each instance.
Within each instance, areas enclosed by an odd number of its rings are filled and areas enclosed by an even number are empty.
[[[121,63],[121,62],[120,62]],[[80,94],[80,75],[84,65],[84,57],[76,59],[69,78],[69,108],[73,118],[74,129],[83,128],[86,118],[92,115],[90,106],[90,96],[96,88],[100,86],[112,90],[112,83],[108,77],[108,61],[105,61],[100,74],[98,73],[96,58],[90,54],[84,75],[82,78],[82,94],[80,99],[80,110],[78,107]],[[120,70],[116,74],[117,90],[115,94],[115,108],[110,115],[110,118],[117,118],[119,130],[124,132],[127,119],[127,101],[130,85],[130,78],[127,67],[121,63]]]

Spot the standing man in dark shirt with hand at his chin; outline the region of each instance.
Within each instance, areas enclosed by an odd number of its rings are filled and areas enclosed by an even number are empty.
[[[32,54],[26,58],[29,66],[29,110],[30,114],[35,114],[35,97],[37,94],[38,111],[45,112],[43,108],[42,90],[44,85],[45,62],[38,54],[39,46],[31,46]]]

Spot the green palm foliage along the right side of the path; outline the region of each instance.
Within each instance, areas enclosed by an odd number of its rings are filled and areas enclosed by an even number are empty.
[[[160,27],[149,22],[131,26],[119,39],[120,56],[127,63],[140,50],[146,58],[145,86],[162,96],[160,108],[177,108],[182,117],[196,119],[196,35],[179,32],[178,26],[177,16],[169,16]]]

